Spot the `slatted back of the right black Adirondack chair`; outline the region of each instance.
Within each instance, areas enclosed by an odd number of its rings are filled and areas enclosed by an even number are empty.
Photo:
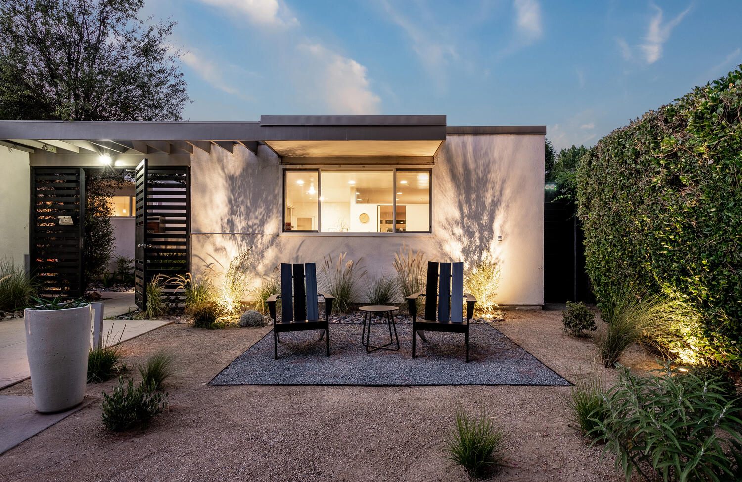
[[[427,263],[425,320],[462,323],[464,263]]]

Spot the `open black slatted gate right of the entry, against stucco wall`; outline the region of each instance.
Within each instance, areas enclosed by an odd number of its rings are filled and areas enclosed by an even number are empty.
[[[163,280],[191,270],[191,177],[188,166],[150,166],[139,162],[136,189],[136,249],[134,251],[134,300],[139,308],[147,303],[146,286],[162,275]],[[182,302],[172,284],[165,295]]]

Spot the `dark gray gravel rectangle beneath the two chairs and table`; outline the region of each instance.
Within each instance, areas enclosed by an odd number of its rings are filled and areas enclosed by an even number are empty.
[[[470,326],[470,363],[464,334],[427,332],[412,359],[412,327],[397,325],[400,350],[370,354],[361,326],[331,324],[330,356],[319,331],[281,334],[273,360],[273,332],[237,357],[210,385],[569,385],[490,325]],[[385,325],[372,326],[371,343],[386,343]]]

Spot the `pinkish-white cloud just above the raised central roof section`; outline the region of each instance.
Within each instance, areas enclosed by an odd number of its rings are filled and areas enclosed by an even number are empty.
[[[367,69],[320,44],[300,44],[298,50],[311,56],[313,69],[306,72],[304,88],[337,114],[375,114],[381,98],[372,92]]]

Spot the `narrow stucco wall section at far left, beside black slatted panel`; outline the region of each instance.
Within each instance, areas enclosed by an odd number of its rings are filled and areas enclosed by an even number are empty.
[[[28,254],[30,168],[28,153],[0,146],[0,257],[24,266]]]

